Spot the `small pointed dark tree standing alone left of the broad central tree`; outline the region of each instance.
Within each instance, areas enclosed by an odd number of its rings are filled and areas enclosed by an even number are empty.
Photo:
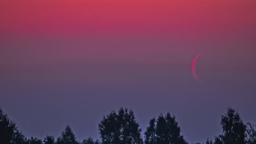
[[[78,144],[71,127],[67,125],[65,131],[58,137],[56,144]]]

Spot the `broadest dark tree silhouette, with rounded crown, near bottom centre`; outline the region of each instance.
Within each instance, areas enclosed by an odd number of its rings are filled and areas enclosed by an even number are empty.
[[[104,116],[98,125],[102,144],[141,144],[141,129],[132,110],[121,108]]]

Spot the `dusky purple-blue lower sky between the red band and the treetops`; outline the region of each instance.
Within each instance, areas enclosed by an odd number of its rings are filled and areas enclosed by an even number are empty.
[[[220,116],[228,106],[237,109],[246,123],[256,119],[252,41],[206,46],[133,38],[4,40],[0,105],[27,136],[59,136],[69,124],[79,140],[97,137],[103,115],[122,106],[135,111],[143,131],[150,118],[161,112],[173,113],[189,142],[220,134]],[[178,52],[124,53],[104,61],[101,55],[112,53],[81,53],[84,49],[80,47],[88,45],[95,49],[175,47]],[[65,51],[56,52],[54,47]],[[195,52],[179,52],[187,47]],[[190,68],[204,47],[210,47],[208,51],[229,47],[235,52],[202,53],[196,63],[197,75],[204,81],[201,84]],[[100,55],[100,60],[92,55]]]

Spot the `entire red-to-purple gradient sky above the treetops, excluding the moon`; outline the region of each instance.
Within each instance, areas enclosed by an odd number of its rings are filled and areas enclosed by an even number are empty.
[[[142,131],[170,112],[188,142],[214,139],[228,106],[256,120],[255,4],[2,0],[0,106],[39,138],[67,124],[97,138],[103,115],[130,107]]]

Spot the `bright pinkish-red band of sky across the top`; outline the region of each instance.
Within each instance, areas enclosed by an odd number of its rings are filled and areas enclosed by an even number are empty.
[[[1,1],[1,29],[22,35],[195,35],[250,29],[255,1]],[[234,32],[235,30],[235,32]]]

